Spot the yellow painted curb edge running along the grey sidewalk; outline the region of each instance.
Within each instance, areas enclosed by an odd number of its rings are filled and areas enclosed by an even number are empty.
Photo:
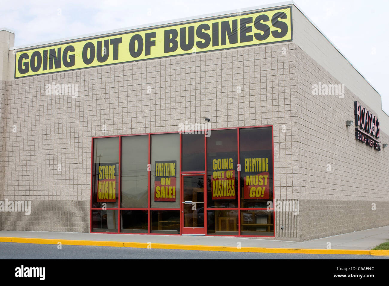
[[[364,255],[388,255],[389,250],[364,250],[364,249],[304,249],[304,248],[271,248],[271,247],[233,247],[233,246],[205,246],[186,244],[163,244],[146,242],[120,242],[98,240],[69,240],[69,239],[36,239],[27,237],[0,237],[0,242],[19,242],[35,244],[61,244],[78,246],[114,246],[153,249],[181,249],[200,251],[228,251],[251,253],[300,253],[300,254],[364,254]]]

